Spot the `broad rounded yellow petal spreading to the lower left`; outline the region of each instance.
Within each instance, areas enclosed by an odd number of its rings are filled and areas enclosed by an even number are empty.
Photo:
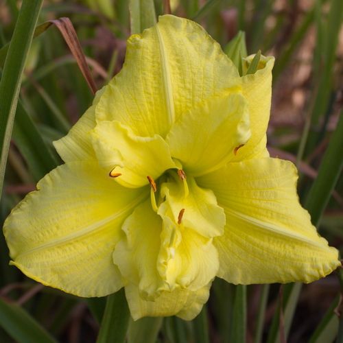
[[[123,286],[113,249],[121,224],[148,191],[124,189],[102,172],[68,163],[38,182],[3,227],[12,264],[78,296],[106,296]]]

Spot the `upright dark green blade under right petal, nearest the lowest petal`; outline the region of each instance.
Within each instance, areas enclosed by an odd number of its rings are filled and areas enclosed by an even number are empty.
[[[230,325],[230,342],[246,342],[246,286],[235,287],[233,319]]]

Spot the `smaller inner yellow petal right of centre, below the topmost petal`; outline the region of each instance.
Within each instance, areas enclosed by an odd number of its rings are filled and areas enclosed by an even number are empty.
[[[226,93],[180,117],[166,141],[185,171],[199,176],[223,167],[249,137],[246,100],[239,93]]]

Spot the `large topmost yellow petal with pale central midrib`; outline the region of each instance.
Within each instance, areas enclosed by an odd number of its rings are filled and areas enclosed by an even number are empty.
[[[237,87],[237,69],[200,25],[160,16],[156,26],[129,38],[123,69],[106,87],[96,117],[118,120],[142,137],[165,137],[187,110]]]

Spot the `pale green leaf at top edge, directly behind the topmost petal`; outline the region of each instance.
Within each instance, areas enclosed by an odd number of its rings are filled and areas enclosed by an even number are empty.
[[[131,34],[140,34],[156,24],[154,0],[130,0],[129,10]]]

